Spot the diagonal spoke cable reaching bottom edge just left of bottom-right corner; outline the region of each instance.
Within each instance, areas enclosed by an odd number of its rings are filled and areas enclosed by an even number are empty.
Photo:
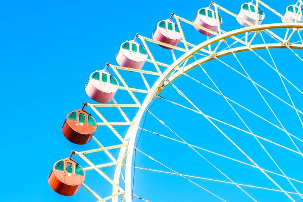
[[[184,97],[198,112],[200,112],[213,126],[215,126],[215,128],[217,130],[219,130],[219,132],[224,136],[226,137],[251,163],[253,163],[266,177],[268,177],[281,191],[283,191],[292,201],[293,198],[288,194],[286,193],[282,187],[279,186],[279,184],[277,184],[265,171],[263,171],[260,166],[254,162],[235,142],[233,142],[210,118],[208,118],[203,112],[201,112],[192,102],[190,99],[188,99],[184,93],[179,90],[172,82],[170,82],[171,85],[177,90],[177,92],[182,96]]]

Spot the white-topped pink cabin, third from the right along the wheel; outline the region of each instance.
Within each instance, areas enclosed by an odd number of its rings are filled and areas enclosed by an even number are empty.
[[[219,16],[219,15],[218,15]],[[219,16],[219,22],[220,25],[222,25],[223,20]],[[202,8],[198,11],[196,17],[193,20],[193,23],[198,24],[202,27],[205,27],[207,29],[210,29],[214,32],[218,31],[218,24],[217,24],[217,15],[215,11],[213,11],[211,8]],[[201,34],[212,36],[212,33],[209,33],[203,29],[198,28],[197,26],[194,27],[198,32]]]

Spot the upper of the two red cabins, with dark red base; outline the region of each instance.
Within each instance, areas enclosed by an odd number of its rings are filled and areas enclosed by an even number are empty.
[[[95,119],[82,109],[70,112],[62,125],[63,135],[75,144],[88,143],[96,130]]]

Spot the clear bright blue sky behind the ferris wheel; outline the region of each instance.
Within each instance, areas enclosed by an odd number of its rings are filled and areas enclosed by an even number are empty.
[[[284,13],[285,8],[289,5],[286,1],[267,0],[265,2],[280,13]],[[3,139],[0,141],[2,148],[0,171],[3,174],[3,183],[0,185],[1,202],[96,200],[83,187],[75,196],[65,197],[55,193],[48,186],[47,175],[56,161],[68,157],[71,150],[81,151],[96,148],[94,142],[82,146],[72,144],[62,135],[61,125],[65,116],[74,109],[80,109],[83,102],[93,103],[86,95],[84,85],[89,75],[97,69],[103,69],[105,63],[116,65],[115,55],[122,42],[133,39],[135,33],[151,38],[156,24],[162,19],[168,19],[172,12],[192,20],[198,9],[208,7],[210,1],[163,3],[159,0],[106,3],[100,1],[0,2],[0,26],[2,27],[0,31],[0,67],[2,70],[0,82],[3,95],[0,104],[5,117],[5,121],[0,124],[3,134]],[[244,2],[218,0],[216,3],[237,13]],[[281,22],[279,17],[265,8],[261,8],[266,13],[263,24]],[[240,28],[232,17],[222,11],[219,13],[223,18],[222,29],[230,31]],[[278,33],[282,31],[278,31]],[[194,44],[206,40],[205,36],[189,25],[184,25],[184,33],[188,41]],[[298,38],[297,35],[294,37]],[[273,42],[268,36],[265,36],[265,40]],[[256,41],[262,42],[260,36],[256,38]],[[167,64],[173,62],[169,51],[155,44],[150,44],[150,49],[157,61]],[[301,51],[296,50],[295,52],[303,56]],[[271,63],[266,51],[258,53]],[[275,49],[271,53],[281,73],[299,89],[303,89],[300,77],[303,73],[302,61],[288,49],[282,51]],[[176,52],[176,55],[179,57],[181,53]],[[245,69],[247,68],[252,79],[291,104],[277,73],[252,53],[241,53],[237,56]],[[224,57],[222,61],[244,73],[233,56]],[[146,64],[144,68],[155,70],[151,64]],[[275,125],[279,125],[249,80],[239,76],[219,61],[205,64],[204,68],[226,96]],[[162,70],[164,71],[164,68]],[[188,74],[215,89],[199,67]],[[125,73],[125,79],[129,85],[142,86],[142,83],[137,82],[139,76],[136,74]],[[147,78],[150,83],[155,79],[156,77]],[[247,130],[222,96],[187,77],[177,79],[175,84],[205,114]],[[289,83],[286,83],[286,87],[296,108],[303,111],[302,94]],[[264,90],[261,92],[264,93],[264,97],[285,129],[303,139],[302,126],[295,111]],[[119,93],[117,93],[119,103],[130,102],[129,97],[124,96],[122,92]],[[168,86],[161,95],[182,105],[190,106],[171,86]],[[140,101],[143,100],[142,94],[137,96]],[[285,132],[237,106],[235,109],[255,134],[293,150],[296,149]],[[158,100],[150,111],[187,142],[250,164],[201,115],[169,104],[164,100]],[[109,121],[121,121],[117,111],[105,109],[103,113]],[[127,113],[133,117],[135,111],[129,110]],[[217,122],[216,124],[260,167],[281,174],[254,137],[226,125]],[[281,126],[279,125],[279,127]],[[147,115],[144,128],[177,139],[173,133],[150,115]],[[125,127],[117,128],[117,130],[121,134],[126,132]],[[119,143],[111,131],[105,127],[98,129],[96,137],[105,142],[106,146]],[[300,150],[303,150],[302,142],[294,141]],[[303,161],[300,155],[269,142],[262,141],[262,144],[268,149],[285,175],[303,181],[301,175]],[[184,144],[143,132],[138,148],[179,173],[228,181]],[[113,151],[113,155],[117,155],[117,152]],[[205,151],[200,151],[200,153],[237,183],[277,189],[255,168]],[[108,163],[109,159],[104,154],[98,155],[91,156],[96,164]],[[88,155],[87,157],[90,158]],[[83,167],[87,166],[80,158],[75,157],[75,160]],[[168,171],[139,153],[136,155],[136,166]],[[112,168],[106,168],[104,171],[109,176],[113,174]],[[106,197],[111,192],[112,187],[96,172],[87,171],[86,174],[85,183],[101,197]],[[270,177],[286,191],[295,192],[285,178],[273,174],[270,174]],[[199,179],[193,179],[193,181],[227,201],[251,200],[231,184]],[[293,185],[300,193],[303,193],[302,183],[293,182]],[[283,193],[249,187],[243,187],[243,189],[257,201],[290,201]],[[219,201],[180,177],[143,170],[136,170],[134,193],[150,201]],[[297,195],[291,194],[291,196],[296,201],[303,200]],[[139,199],[134,199],[134,201],[139,201]]]

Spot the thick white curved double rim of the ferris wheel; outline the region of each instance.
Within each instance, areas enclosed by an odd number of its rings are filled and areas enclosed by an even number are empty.
[[[276,24],[265,24],[265,25],[258,25],[258,26],[250,26],[250,27],[244,27],[236,30],[232,30],[229,32],[226,32],[224,34],[215,36],[207,41],[204,41],[192,49],[190,49],[188,52],[183,54],[180,58],[178,58],[167,70],[158,78],[158,80],[155,82],[153,87],[150,88],[148,94],[146,95],[139,111],[137,112],[133,124],[129,127],[126,135],[125,135],[125,142],[128,144],[128,147],[122,147],[119,152],[119,157],[118,157],[118,162],[123,159],[125,152],[127,150],[127,157],[126,157],[126,164],[125,164],[125,201],[126,202],[131,202],[132,200],[132,195],[131,195],[131,170],[132,170],[132,158],[133,158],[133,150],[134,150],[134,144],[136,140],[136,135],[137,135],[137,130],[141,121],[141,118],[144,114],[145,109],[149,105],[149,103],[154,99],[154,95],[157,93],[158,88],[161,86],[162,82],[166,80],[167,76],[178,66],[180,65],[184,60],[189,58],[191,55],[194,53],[198,52],[201,48],[207,47],[208,45],[211,45],[215,42],[218,42],[222,39],[229,38],[234,35],[238,35],[241,33],[246,33],[246,32],[252,32],[252,31],[260,31],[260,30],[265,30],[265,29],[275,29],[275,28],[303,28],[303,24],[300,25],[298,23],[276,23]],[[293,44],[289,45],[291,48],[298,48],[298,49],[303,49],[303,44]],[[265,44],[258,44],[258,45],[251,45],[251,49],[265,49],[266,45]],[[279,43],[274,43],[274,44],[268,44],[268,48],[287,48],[286,46],[283,46]],[[232,54],[232,51],[234,53],[238,52],[244,52],[248,51],[249,48],[246,46],[242,47],[235,47],[232,48],[231,50],[226,50],[218,54],[216,57],[223,57],[225,55]],[[174,75],[170,75],[168,78],[170,81],[175,80],[179,76],[182,75],[182,72],[187,72],[191,70],[192,68],[196,67],[198,64],[205,63],[208,61],[213,60],[214,58],[210,57],[205,57],[202,59],[199,59],[197,62],[193,62],[186,67],[184,67],[183,71],[179,70],[176,72]],[[120,170],[121,170],[122,163],[117,164],[116,170],[115,170],[115,176],[114,176],[114,182],[119,184],[120,180]],[[118,189],[113,187],[113,194],[117,193]],[[118,197],[115,196],[113,197],[113,202],[118,202]]]

